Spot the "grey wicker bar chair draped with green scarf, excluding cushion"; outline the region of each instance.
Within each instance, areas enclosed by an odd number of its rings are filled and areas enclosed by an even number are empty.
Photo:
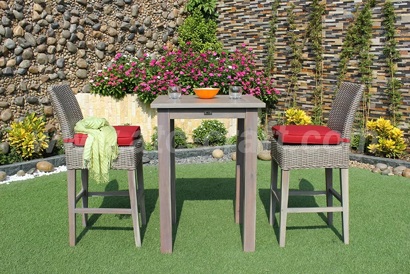
[[[56,85],[48,89],[54,112],[58,118],[61,133],[65,140],[74,138],[74,126],[83,119],[79,104],[68,84]],[[88,170],[83,169],[84,146],[73,142],[65,142],[67,181],[68,181],[68,215],[70,246],[76,244],[75,214],[83,215],[83,226],[87,226],[88,214],[131,214],[134,226],[135,245],[141,246],[138,220],[138,204],[141,213],[141,223],[146,224],[144,177],[142,175],[142,139],[137,139],[133,145],[119,146],[118,158],[113,164],[115,170],[128,171],[129,191],[89,192]],[[81,191],[76,195],[76,170],[81,170]],[[136,187],[138,182],[138,188]],[[88,197],[129,196],[131,208],[89,208]],[[77,208],[81,199],[83,208]]]

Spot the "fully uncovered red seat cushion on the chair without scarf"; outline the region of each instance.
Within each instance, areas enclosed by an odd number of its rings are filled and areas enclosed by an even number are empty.
[[[323,125],[276,125],[272,134],[280,143],[290,144],[338,144],[340,134]]]

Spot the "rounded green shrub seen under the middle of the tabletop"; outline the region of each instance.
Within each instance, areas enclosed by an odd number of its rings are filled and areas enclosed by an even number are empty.
[[[218,120],[203,120],[193,131],[192,138],[201,145],[224,145],[227,142],[228,130]]]

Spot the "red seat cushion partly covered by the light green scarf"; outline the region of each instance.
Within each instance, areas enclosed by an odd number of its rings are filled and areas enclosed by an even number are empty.
[[[138,125],[114,125],[114,129],[117,132],[118,145],[133,145],[141,133],[141,129]],[[68,143],[73,142],[78,146],[84,146],[87,137],[87,134],[76,133],[73,139],[65,139],[64,141]]]

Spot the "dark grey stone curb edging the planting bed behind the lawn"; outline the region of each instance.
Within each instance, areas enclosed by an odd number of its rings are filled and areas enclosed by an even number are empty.
[[[262,145],[263,145],[263,150],[270,149],[270,141],[262,141]],[[195,149],[176,150],[175,157],[178,159],[183,159],[183,158],[188,158],[188,157],[209,156],[212,154],[212,151],[216,149],[222,150],[224,154],[230,154],[230,153],[235,152],[236,145],[231,144],[231,145],[220,145],[220,146],[205,146],[205,147],[196,147]],[[147,157],[150,160],[158,159],[158,151],[144,151],[144,157]],[[358,161],[361,163],[368,163],[368,164],[384,163],[384,164],[387,164],[393,167],[403,165],[407,168],[410,168],[410,162],[407,162],[407,161],[380,158],[380,157],[361,155],[361,154],[356,154],[356,153],[351,153],[350,159],[352,161]],[[60,165],[66,164],[66,156],[59,155],[59,156],[53,156],[53,157],[49,157],[45,159],[36,159],[36,160],[30,160],[26,162],[0,165],[0,171],[4,171],[8,175],[16,174],[17,171],[19,170],[24,170],[25,172],[27,172],[31,168],[36,167],[36,164],[40,161],[48,161],[52,163],[54,166],[60,166]]]

